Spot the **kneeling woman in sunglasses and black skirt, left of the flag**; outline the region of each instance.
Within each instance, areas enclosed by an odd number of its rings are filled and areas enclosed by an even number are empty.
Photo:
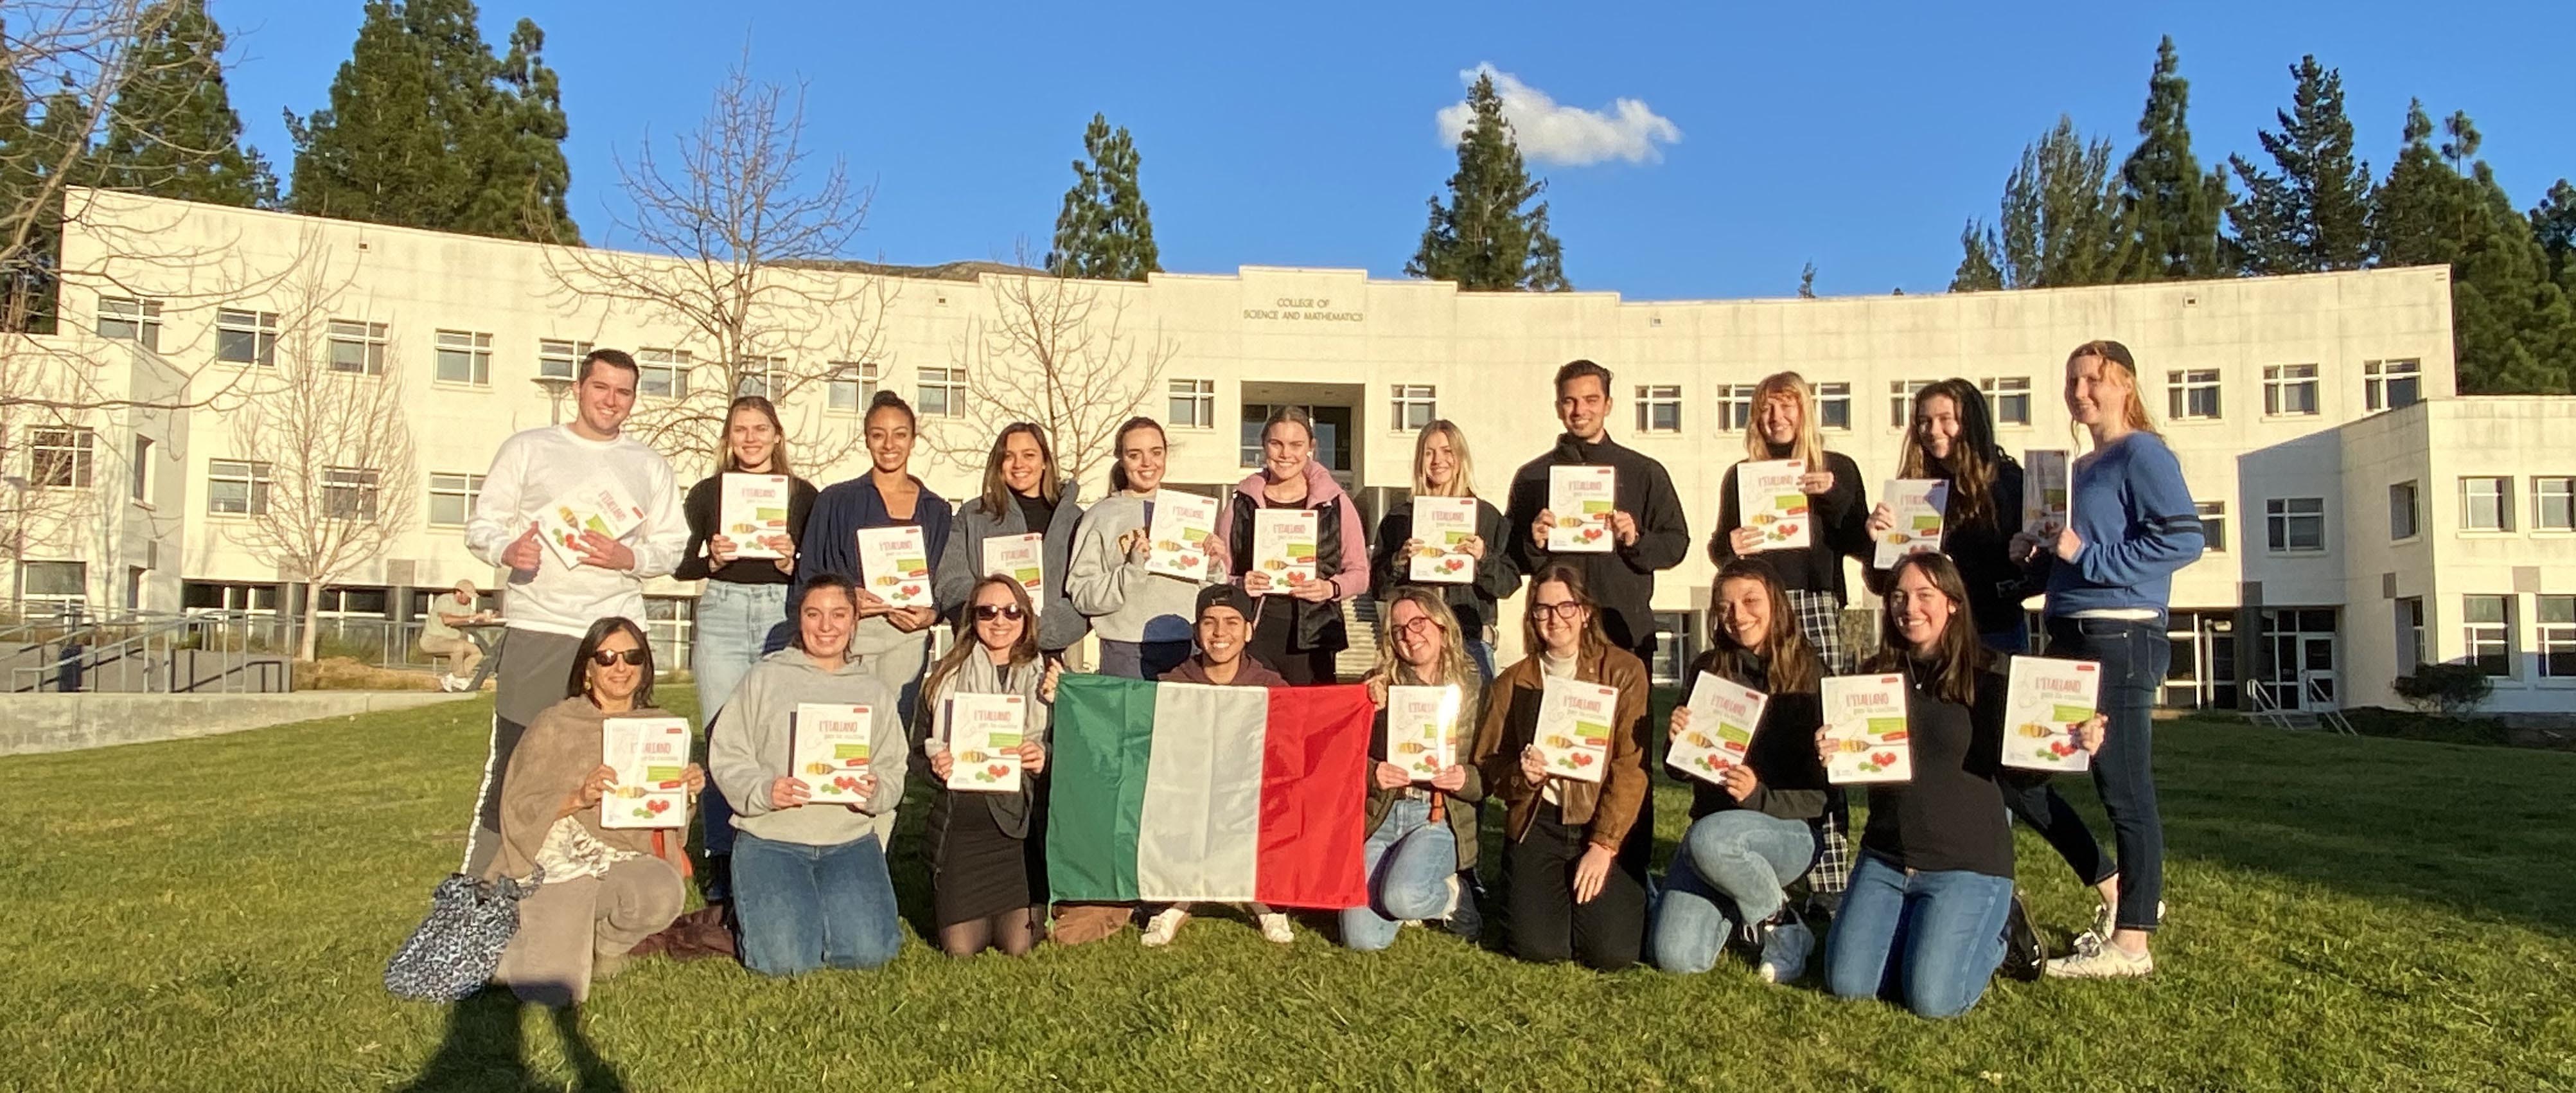
[[[974,956],[984,949],[1020,956],[1036,949],[1046,925],[1041,779],[1056,673],[1061,668],[1038,657],[1038,619],[1028,606],[1028,590],[1010,577],[976,580],[966,593],[956,647],[922,683],[922,717],[930,722],[922,753],[930,755],[930,773],[940,779],[933,784],[922,846],[930,853],[930,918],[948,956]],[[948,789],[948,773],[958,763],[948,745],[953,730],[948,699],[961,693],[1020,696],[1028,722],[1020,748],[1012,750],[1020,763],[1018,791]]]

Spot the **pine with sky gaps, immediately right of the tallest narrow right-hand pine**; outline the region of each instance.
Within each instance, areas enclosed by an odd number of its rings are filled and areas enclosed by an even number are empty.
[[[2241,155],[2228,165],[2244,196],[2228,206],[2244,273],[2354,271],[2370,258],[2370,165],[2352,157],[2344,75],[2300,57],[2290,108],[2275,111],[2280,131],[2254,139],[2272,157],[2267,173]]]

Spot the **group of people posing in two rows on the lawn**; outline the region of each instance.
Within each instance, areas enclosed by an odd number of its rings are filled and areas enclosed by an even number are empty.
[[[1115,433],[1110,495],[1079,508],[1036,425],[994,438],[981,495],[951,510],[912,477],[912,410],[878,394],[866,412],[871,469],[814,490],[796,479],[768,400],[734,402],[716,474],[680,498],[670,467],[618,433],[634,405],[634,363],[618,351],[582,361],[580,418],[510,438],[469,526],[469,546],[513,570],[513,634],[502,647],[492,758],[466,871],[544,884],[523,902],[520,933],[500,977],[531,1000],[577,1000],[683,905],[690,858],[677,830],[603,830],[598,766],[603,719],[652,714],[652,647],[634,624],[649,575],[706,580],[696,616],[706,771],[698,797],[711,902],[729,900],[739,954],[762,974],[876,967],[899,949],[886,846],[907,773],[933,784],[922,858],[943,951],[1025,954],[1041,941],[1087,943],[1144,923],[1144,943],[1172,943],[1188,905],[1048,905],[1046,758],[1066,650],[1097,639],[1097,670],[1216,686],[1316,686],[1337,678],[1350,647],[1345,601],[1376,598],[1376,668],[1363,681],[1381,704],[1365,797],[1368,902],[1340,913],[1342,943],[1383,949],[1406,923],[1476,936],[1499,900],[1512,951],[1597,969],[1651,962],[1705,972],[1728,943],[1754,951],[1762,980],[1798,980],[1816,938],[1806,907],[1832,907],[1824,982],[1837,995],[1901,1000],[1924,1016],[1971,1008],[2004,956],[2017,815],[2035,825],[2102,895],[2102,913],[2050,974],[2120,977],[2154,969],[2148,936],[2161,918],[2161,822],[2148,763],[2148,706],[2164,675],[2169,575],[2200,552],[2200,523],[2174,454],[2154,433],[2128,348],[2079,345],[2066,361],[2066,405],[2089,430],[2076,459],[2071,518],[2022,523],[2022,474],[1996,449],[1981,392],[1942,382],[1914,397],[1901,477],[1947,479],[1940,552],[1868,570],[1886,598],[1878,652],[1852,665],[1842,642],[1844,557],[1865,567],[1893,513],[1870,508],[1852,459],[1819,441],[1816,405],[1795,374],[1759,384],[1747,459],[1803,459],[1814,541],[1759,552],[1736,510],[1736,469],[1718,498],[1710,673],[1770,696],[1752,753],[1721,781],[1695,781],[1690,827],[1662,882],[1649,876],[1654,807],[1649,670],[1654,580],[1690,554],[1690,528],[1669,474],[1607,436],[1610,371],[1571,361],[1556,374],[1564,433],[1528,461],[1504,505],[1473,490],[1468,441],[1430,423],[1414,446],[1414,492],[1479,498],[1476,534],[1453,544],[1473,559],[1463,583],[1417,583],[1422,546],[1399,505],[1365,536],[1355,500],[1316,459],[1314,425],[1283,410],[1262,428],[1262,469],[1224,500],[1208,570],[1198,580],[1146,567],[1167,438],[1151,418]],[[1551,552],[1551,467],[1615,467],[1610,552]],[[791,508],[768,557],[719,528],[721,474],[786,474]],[[613,474],[641,503],[623,539],[587,534],[580,565],[538,549],[533,505],[577,479]],[[1316,580],[1275,593],[1252,567],[1262,510],[1316,513]],[[860,580],[860,528],[917,526],[933,562],[935,606],[889,606]],[[526,531],[523,531],[526,528]],[[981,575],[994,536],[1043,536],[1043,603],[1015,577]],[[1499,603],[1528,588],[1525,657],[1494,665]],[[2105,858],[2081,815],[2040,773],[1999,763],[2004,655],[2027,652],[2022,598],[2048,593],[2048,655],[2097,660],[2102,714],[2074,727],[2115,830]],[[587,601],[587,603],[585,603]],[[587,611],[582,616],[580,611]],[[927,663],[930,632],[956,642]],[[523,642],[523,632],[533,637]],[[1914,776],[1868,791],[1857,853],[1842,789],[1829,784],[1819,683],[1826,675],[1904,673]],[[1618,724],[1600,781],[1551,776],[1533,748],[1548,678],[1618,693]],[[1427,784],[1386,758],[1386,688],[1453,686],[1471,745]],[[1025,699],[1025,771],[1015,794],[948,791],[948,699]],[[796,704],[866,704],[873,711],[863,804],[817,804],[791,768]],[[1674,711],[1669,732],[1690,724]],[[1504,815],[1504,861],[1479,882],[1486,799]],[[1837,900],[1839,897],[1839,900]],[[1839,902],[1839,907],[1837,907]],[[1285,915],[1244,907],[1262,936],[1288,943]]]

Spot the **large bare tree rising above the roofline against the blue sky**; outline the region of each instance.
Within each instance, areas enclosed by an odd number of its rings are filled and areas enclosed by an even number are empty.
[[[876,188],[804,144],[804,85],[752,80],[744,54],[670,152],[654,152],[647,134],[634,162],[618,160],[618,191],[629,209],[611,235],[644,253],[551,247],[549,271],[567,304],[605,299],[672,330],[667,351],[688,353],[685,392],[654,394],[659,376],[647,374],[647,397],[629,418],[644,443],[701,464],[737,394],[786,407],[824,394],[827,382],[858,382],[876,361],[889,289],[835,271]],[[829,418],[804,418],[804,428],[788,425],[793,441],[832,441]]]

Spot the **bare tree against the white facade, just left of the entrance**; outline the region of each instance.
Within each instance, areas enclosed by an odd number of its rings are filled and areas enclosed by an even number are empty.
[[[1180,345],[1162,327],[1131,322],[1118,286],[1038,273],[1025,245],[1015,266],[984,273],[992,317],[971,320],[951,351],[966,371],[966,428],[933,428],[925,441],[976,469],[1002,425],[1025,420],[1046,430],[1064,474],[1090,482],[1115,459],[1118,425],[1154,397]]]

